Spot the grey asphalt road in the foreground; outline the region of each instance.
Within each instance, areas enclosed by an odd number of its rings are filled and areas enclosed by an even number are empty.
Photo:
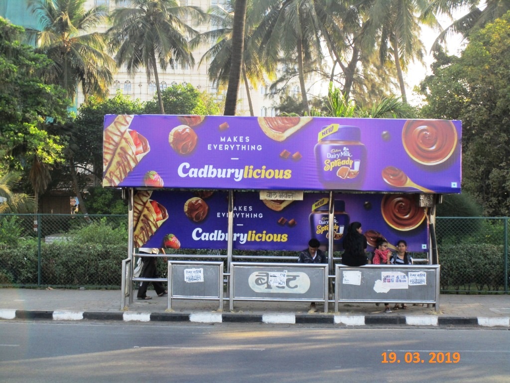
[[[507,329],[0,322],[4,383],[507,383],[508,361]]]

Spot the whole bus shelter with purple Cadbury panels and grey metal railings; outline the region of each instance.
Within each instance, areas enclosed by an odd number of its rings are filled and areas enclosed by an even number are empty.
[[[103,186],[122,188],[129,201],[121,306],[132,303],[133,281],[147,280],[133,276],[142,247],[167,252],[169,307],[172,299],[218,299],[220,308],[226,299],[231,309],[235,301],[313,299],[327,311],[333,294],[338,304],[384,302],[389,293],[437,303],[435,207],[442,194],[461,192],[461,134],[461,122],[444,120],[105,116]],[[393,248],[403,239],[409,251],[427,253],[426,264],[339,271],[334,255],[354,221],[369,251],[377,238]],[[307,248],[310,238],[326,251],[326,267],[278,255]],[[211,253],[179,263],[178,249]],[[243,250],[275,255],[243,262],[234,255]],[[426,278],[416,279],[419,268]],[[406,282],[379,280],[388,273],[404,273]],[[411,279],[429,287],[416,289]]]

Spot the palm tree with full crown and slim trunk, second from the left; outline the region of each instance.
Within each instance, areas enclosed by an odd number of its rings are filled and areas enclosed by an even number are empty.
[[[161,114],[165,110],[158,64],[163,70],[177,62],[195,64],[187,39],[198,32],[183,19],[199,23],[206,20],[206,14],[198,7],[181,7],[176,0],[130,0],[130,8],[117,8],[111,15],[113,26],[108,34],[117,65],[125,63],[130,74],[145,66],[147,80],[154,76]]]

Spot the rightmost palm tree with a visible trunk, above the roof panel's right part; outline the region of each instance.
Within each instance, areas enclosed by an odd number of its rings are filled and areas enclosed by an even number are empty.
[[[367,32],[379,41],[379,59],[388,60],[389,54],[397,71],[402,101],[407,102],[403,71],[415,58],[423,61],[423,43],[419,39],[421,24],[439,28],[429,12],[428,0],[369,0],[366,2],[369,27]]]

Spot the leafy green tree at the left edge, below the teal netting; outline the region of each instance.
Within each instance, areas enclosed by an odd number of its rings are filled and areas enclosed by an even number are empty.
[[[0,149],[5,170],[27,171],[37,161],[63,161],[63,140],[52,134],[47,117],[63,122],[68,100],[41,74],[52,65],[45,56],[21,44],[23,29],[0,18]]]

